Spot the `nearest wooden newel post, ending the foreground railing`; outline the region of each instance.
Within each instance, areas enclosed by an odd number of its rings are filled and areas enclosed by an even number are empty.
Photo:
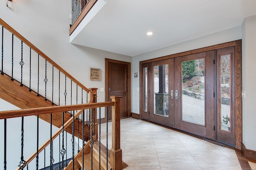
[[[112,148],[110,149],[110,165],[112,170],[122,169],[122,149],[120,149],[120,99],[121,96],[110,96],[112,106]]]

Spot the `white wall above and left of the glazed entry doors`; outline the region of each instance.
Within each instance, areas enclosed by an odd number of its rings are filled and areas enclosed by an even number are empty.
[[[140,113],[140,93],[136,91],[140,87],[140,61],[242,39],[241,30],[242,27],[238,26],[132,57],[132,74],[138,72],[138,78],[132,77],[132,112]]]

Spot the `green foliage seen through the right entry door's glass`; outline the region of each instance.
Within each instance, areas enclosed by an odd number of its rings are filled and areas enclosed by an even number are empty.
[[[189,79],[196,76],[196,60],[182,62],[182,79]]]

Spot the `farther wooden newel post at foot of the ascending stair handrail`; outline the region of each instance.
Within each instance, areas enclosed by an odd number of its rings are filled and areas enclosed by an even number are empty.
[[[97,103],[97,90],[98,88],[89,88],[90,90],[90,101],[92,103]],[[96,139],[98,139],[98,123],[97,123],[97,109],[93,108],[93,113],[91,116],[93,116],[93,134],[95,135]],[[90,127],[91,128],[91,127]]]

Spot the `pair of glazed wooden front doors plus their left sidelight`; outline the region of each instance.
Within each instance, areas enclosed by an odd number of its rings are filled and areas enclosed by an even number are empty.
[[[142,69],[148,88],[142,90],[147,95],[142,119],[214,140],[214,51],[155,61]]]

